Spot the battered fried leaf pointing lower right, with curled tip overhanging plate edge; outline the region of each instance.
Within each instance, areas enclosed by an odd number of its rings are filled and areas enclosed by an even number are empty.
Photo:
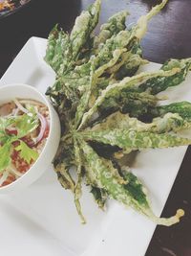
[[[109,160],[99,157],[96,152],[84,142],[81,143],[81,149],[84,151],[89,169],[93,170],[96,174],[96,178],[101,183],[101,187],[104,188],[110,198],[114,198],[124,205],[132,207],[141,214],[150,217],[153,221],[162,223],[163,225],[174,224],[180,221],[182,213],[180,211],[178,215],[169,219],[156,217],[149,207],[144,188],[135,175],[126,175],[127,184],[120,184],[117,182],[117,178],[111,173],[111,163]],[[108,166],[110,166],[110,168],[108,168]],[[115,172],[117,172],[117,170]]]

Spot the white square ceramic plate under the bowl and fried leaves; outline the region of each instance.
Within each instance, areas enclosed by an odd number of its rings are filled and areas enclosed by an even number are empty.
[[[0,85],[22,82],[45,92],[54,81],[53,70],[45,63],[47,40],[32,37],[13,60]],[[151,63],[143,70],[155,70]],[[191,77],[168,90],[172,101],[191,100]],[[170,102],[170,101],[169,101]],[[56,131],[55,131],[56,132]],[[179,172],[186,147],[143,151],[133,172],[150,191],[154,211],[159,215]],[[70,192],[61,188],[53,168],[21,193],[0,196],[0,252],[3,256],[143,256],[156,224],[110,202],[101,212],[84,188],[82,225]],[[179,208],[179,205],[177,205]]]

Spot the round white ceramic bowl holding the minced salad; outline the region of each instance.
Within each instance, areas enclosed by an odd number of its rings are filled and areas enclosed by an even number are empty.
[[[33,163],[31,169],[11,184],[1,187],[0,194],[23,189],[39,178],[52,164],[60,140],[59,118],[56,111],[53,109],[53,105],[51,105],[45,95],[27,84],[9,84],[0,87],[0,105],[9,103],[15,98],[31,99],[47,105],[50,113],[50,132],[45,147],[38,156],[38,159]]]

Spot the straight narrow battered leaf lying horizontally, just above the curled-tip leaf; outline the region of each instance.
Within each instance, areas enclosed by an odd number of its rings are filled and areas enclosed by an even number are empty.
[[[191,140],[171,134],[137,131],[134,129],[105,129],[80,133],[85,140],[117,146],[123,150],[163,149],[190,145]]]

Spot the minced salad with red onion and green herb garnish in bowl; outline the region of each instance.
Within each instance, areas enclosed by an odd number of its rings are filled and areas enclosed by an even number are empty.
[[[29,171],[45,146],[49,123],[42,103],[14,99],[0,105],[0,187]]]

